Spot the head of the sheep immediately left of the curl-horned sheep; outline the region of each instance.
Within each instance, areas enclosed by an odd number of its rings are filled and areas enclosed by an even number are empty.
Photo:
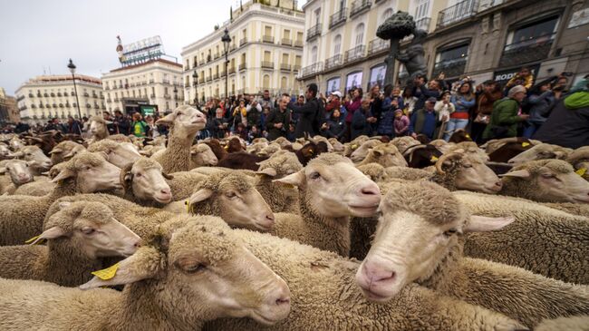
[[[121,189],[121,169],[107,162],[105,157],[102,152],[84,151],[60,167],[52,181],[75,179],[76,189],[81,193]]]

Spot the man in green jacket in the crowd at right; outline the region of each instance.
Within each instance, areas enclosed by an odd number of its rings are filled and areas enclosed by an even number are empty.
[[[526,98],[526,88],[516,85],[509,90],[506,98],[493,103],[491,119],[483,131],[483,141],[517,136],[517,124],[529,118],[521,112],[521,102]]]

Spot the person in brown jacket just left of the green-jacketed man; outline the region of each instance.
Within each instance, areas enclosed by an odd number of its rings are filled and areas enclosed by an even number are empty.
[[[493,103],[503,97],[501,85],[495,81],[485,81],[477,86],[477,105],[475,107],[474,119],[470,127],[470,137],[473,141],[482,142],[483,131],[487,127],[493,112]]]

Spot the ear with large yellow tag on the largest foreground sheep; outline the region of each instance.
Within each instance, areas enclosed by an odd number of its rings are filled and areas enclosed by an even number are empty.
[[[159,250],[150,246],[140,247],[135,254],[110,268],[92,272],[94,277],[80,286],[81,289],[124,285],[153,278],[164,269]]]

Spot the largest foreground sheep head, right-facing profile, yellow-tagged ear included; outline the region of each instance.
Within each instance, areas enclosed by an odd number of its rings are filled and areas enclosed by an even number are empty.
[[[175,229],[164,229],[158,248],[139,248],[120,262],[110,280],[94,277],[81,288],[152,279],[155,287],[148,290],[168,306],[160,308],[187,324],[251,317],[272,325],[288,316],[290,291],[285,281],[247,250],[222,219],[179,217],[167,225]]]

